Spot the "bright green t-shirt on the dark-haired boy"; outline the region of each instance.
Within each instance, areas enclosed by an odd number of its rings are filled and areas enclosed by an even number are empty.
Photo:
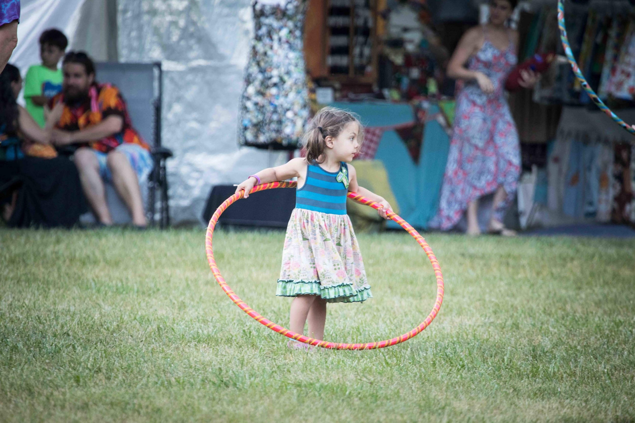
[[[44,127],[44,107],[36,106],[31,101],[32,96],[47,96],[49,98],[62,91],[62,69],[50,70],[42,65],[33,65],[24,78],[24,100],[27,111],[39,126]]]

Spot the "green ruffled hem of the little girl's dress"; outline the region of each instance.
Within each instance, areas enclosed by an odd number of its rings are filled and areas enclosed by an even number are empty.
[[[276,296],[297,297],[298,295],[319,295],[326,299],[327,303],[358,303],[373,297],[370,285],[354,289],[352,283],[323,287],[316,281],[278,280]]]

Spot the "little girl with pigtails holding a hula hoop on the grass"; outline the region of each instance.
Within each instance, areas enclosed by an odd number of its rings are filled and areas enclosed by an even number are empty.
[[[326,303],[354,303],[372,297],[359,244],[346,214],[346,195],[357,192],[382,205],[387,219],[391,205],[358,185],[355,168],[348,165],[363,141],[363,127],[349,112],[323,108],[304,134],[306,158],[271,167],[238,185],[244,197],[254,185],[298,178],[296,204],[284,240],[282,269],[276,296],[295,297],[289,329],[324,339]],[[306,344],[289,341],[291,348]]]

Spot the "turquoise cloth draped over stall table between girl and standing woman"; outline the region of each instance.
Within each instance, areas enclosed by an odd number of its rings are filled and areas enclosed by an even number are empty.
[[[438,112],[437,106],[429,111]],[[450,137],[436,120],[425,124],[418,166],[395,131],[386,131],[380,140],[375,159],[384,162],[400,216],[415,228],[427,229],[436,215],[449,150]],[[393,221],[387,226],[399,228]]]

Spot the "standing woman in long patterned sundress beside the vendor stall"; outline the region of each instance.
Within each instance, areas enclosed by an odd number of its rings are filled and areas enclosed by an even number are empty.
[[[430,223],[432,228],[449,230],[467,211],[467,233],[479,235],[478,200],[494,193],[487,230],[515,235],[502,219],[520,174],[518,131],[504,91],[505,80],[518,61],[518,32],[505,26],[516,3],[492,0],[489,23],[469,29],[448,63],[448,76],[458,79],[460,86],[439,211]],[[537,81],[534,72],[521,75],[523,87]]]

